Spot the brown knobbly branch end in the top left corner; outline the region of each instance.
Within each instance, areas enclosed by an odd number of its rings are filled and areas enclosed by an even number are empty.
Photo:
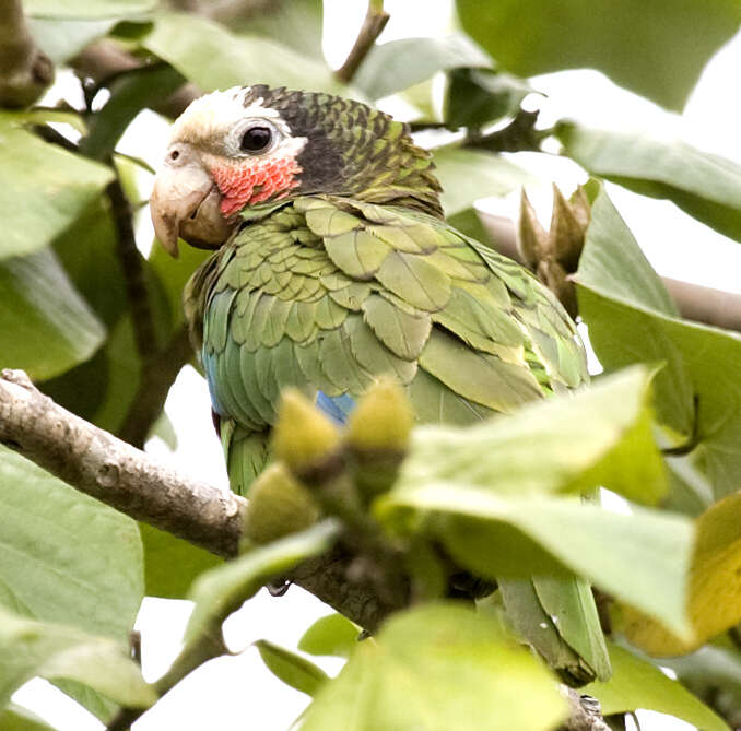
[[[0,0],[0,106],[27,107],[54,81],[54,64],[36,46],[21,0]]]

